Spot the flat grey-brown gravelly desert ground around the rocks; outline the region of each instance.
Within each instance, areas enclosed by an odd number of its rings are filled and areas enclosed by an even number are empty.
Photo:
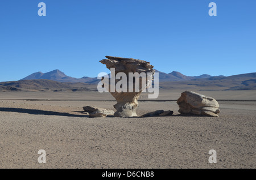
[[[89,118],[82,106],[114,110],[113,97],[0,92],[0,168],[256,168],[255,91],[199,92],[219,100],[219,118],[180,115],[180,93],[139,101],[138,115],[172,109],[170,117]],[[46,164],[38,163],[39,149]]]

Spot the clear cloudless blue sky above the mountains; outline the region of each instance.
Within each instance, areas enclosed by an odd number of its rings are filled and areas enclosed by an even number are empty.
[[[256,1],[0,1],[0,82],[55,69],[95,77],[109,72],[105,55],[189,76],[256,72]]]

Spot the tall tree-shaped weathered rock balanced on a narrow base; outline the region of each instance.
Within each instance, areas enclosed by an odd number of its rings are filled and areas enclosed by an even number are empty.
[[[106,56],[106,58],[107,59],[103,59],[100,62],[102,64],[105,64],[110,71],[112,68],[114,68],[115,71],[114,73],[112,72],[111,78],[112,80],[114,79],[114,81],[111,81],[110,78],[108,78],[107,81],[105,78],[102,78],[102,83],[103,86],[117,100],[117,104],[114,105],[114,108],[117,110],[117,112],[114,113],[114,116],[137,116],[136,108],[138,106],[139,95],[141,95],[142,91],[144,91],[146,88],[150,87],[155,72],[155,70],[153,70],[154,66],[150,65],[150,62],[139,59],[111,56]],[[118,76],[118,73],[119,75],[122,75],[122,78],[116,78]],[[139,75],[146,74],[146,80],[144,81],[143,78],[140,76],[133,77],[132,79],[129,78],[129,75],[134,73],[137,73]],[[123,82],[122,90],[126,91],[118,91],[115,88],[118,84],[121,84],[121,81]],[[125,84],[126,87],[124,87]],[[139,87],[137,86],[137,88],[135,88],[135,84],[139,84]],[[133,85],[133,87],[131,87],[131,85]]]

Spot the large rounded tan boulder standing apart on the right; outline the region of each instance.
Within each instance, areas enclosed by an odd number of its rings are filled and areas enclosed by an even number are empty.
[[[204,96],[196,92],[185,91],[177,100],[181,114],[207,115],[218,117],[220,109],[218,102],[212,97]]]

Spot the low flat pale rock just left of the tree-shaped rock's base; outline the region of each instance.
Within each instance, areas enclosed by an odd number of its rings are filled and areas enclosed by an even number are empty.
[[[95,106],[82,107],[85,112],[89,113],[89,117],[106,117],[107,115],[113,115],[114,111],[110,109],[97,108]]]

